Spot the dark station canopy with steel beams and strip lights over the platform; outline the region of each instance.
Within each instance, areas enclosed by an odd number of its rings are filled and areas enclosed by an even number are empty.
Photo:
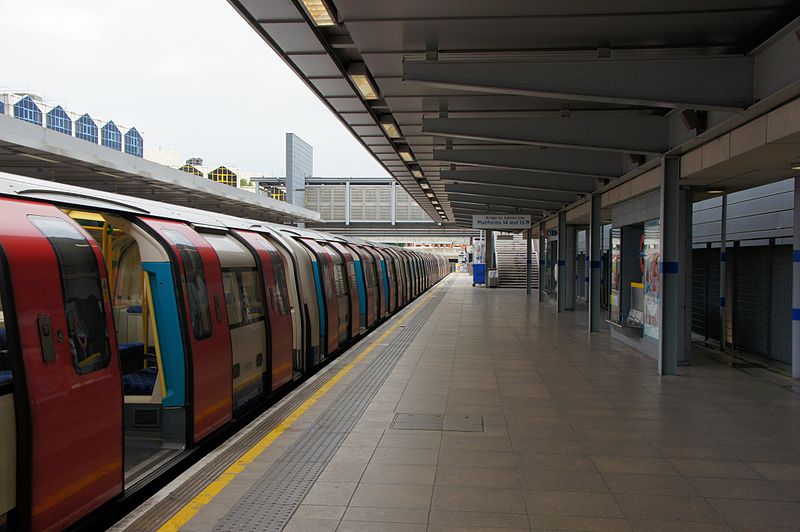
[[[796,0],[230,3],[444,223],[536,221],[800,94]]]

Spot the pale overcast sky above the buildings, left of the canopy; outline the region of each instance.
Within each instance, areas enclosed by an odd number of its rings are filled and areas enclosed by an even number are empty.
[[[214,164],[282,176],[294,132],[314,147],[315,175],[386,175],[225,0],[0,4],[0,89]]]

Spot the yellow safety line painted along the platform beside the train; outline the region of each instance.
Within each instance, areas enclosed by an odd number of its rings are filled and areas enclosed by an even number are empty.
[[[442,279],[443,281],[444,279]],[[227,486],[234,478],[236,478],[239,473],[245,470],[248,464],[250,464],[253,460],[258,458],[261,453],[267,450],[267,448],[272,445],[272,443],[278,439],[278,436],[283,434],[289,427],[291,427],[295,421],[297,421],[300,416],[302,416],[309,408],[311,408],[314,403],[319,401],[319,399],[328,393],[328,391],[333,388],[333,386],[339,382],[342,377],[347,375],[350,370],[352,370],[356,364],[361,362],[368,354],[375,349],[378,344],[383,342],[387,336],[389,336],[392,332],[394,332],[397,327],[403,323],[409,316],[412,316],[428,299],[433,297],[433,294],[436,290],[441,288],[442,284],[441,281],[437,286],[435,286],[431,292],[422,298],[419,301],[419,304],[416,305],[413,309],[407,314],[400,316],[397,322],[395,322],[391,327],[389,327],[386,332],[381,334],[374,342],[372,342],[369,346],[364,348],[364,350],[356,356],[352,362],[347,364],[343,367],[339,372],[331,377],[331,379],[326,382],[319,390],[317,390],[314,395],[306,399],[300,406],[298,406],[289,416],[281,421],[281,423],[272,429],[269,434],[264,436],[261,440],[259,440],[255,445],[250,447],[241,457],[239,457],[236,462],[228,466],[228,468],[220,473],[220,475],[214,479],[208,486],[203,488],[203,491],[198,493],[189,503],[181,508],[175,515],[173,515],[169,521],[164,523],[164,525],[159,528],[159,531],[175,531],[180,530],[180,528],[189,522],[189,520],[194,517],[197,512],[199,512],[203,506],[210,503],[214,497],[216,497],[224,488]]]

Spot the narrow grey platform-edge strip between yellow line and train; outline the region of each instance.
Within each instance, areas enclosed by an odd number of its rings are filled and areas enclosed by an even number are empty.
[[[442,282],[449,283],[450,281]],[[430,305],[430,301],[428,305]],[[411,303],[411,306],[407,310],[413,308],[413,306],[414,303]],[[380,335],[381,332],[391,327],[391,325],[392,320],[384,323],[354,348],[331,362],[331,364],[317,375],[316,379],[303,384],[300,388],[292,392],[283,404],[266,415],[253,430],[242,437],[235,445],[219,453],[211,462],[189,477],[180,487],[175,489],[175,491],[171,492],[169,496],[160,500],[154,504],[152,508],[127,524],[126,528],[129,530],[158,530],[181,508],[189,504],[189,502],[191,502],[206,486],[219,477],[232,463],[238,460],[247,449],[251,448],[264,436],[269,434],[282,421],[289,417],[298,406],[303,404],[309,397],[314,395],[317,390],[322,388],[333,378],[341,368],[352,362],[361,351],[370,345],[370,338]]]

